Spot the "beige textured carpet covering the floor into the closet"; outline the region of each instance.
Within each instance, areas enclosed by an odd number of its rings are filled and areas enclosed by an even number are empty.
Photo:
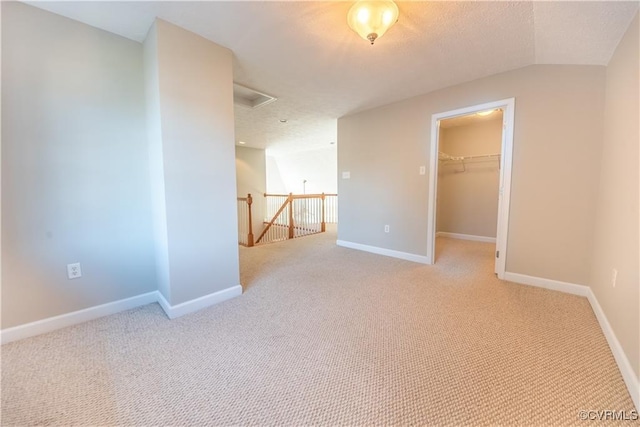
[[[2,347],[3,425],[600,425],[633,404],[586,299],[500,282],[489,244],[423,266],[325,233],[241,248],[245,294]],[[634,422],[616,422],[635,425]]]

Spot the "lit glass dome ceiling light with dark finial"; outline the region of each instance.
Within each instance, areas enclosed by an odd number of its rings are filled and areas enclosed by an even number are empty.
[[[347,14],[349,27],[371,44],[398,22],[398,6],[392,0],[360,0]]]

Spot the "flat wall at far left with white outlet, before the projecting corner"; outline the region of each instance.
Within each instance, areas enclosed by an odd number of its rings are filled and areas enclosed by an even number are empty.
[[[156,289],[143,79],[140,43],[2,2],[3,328]]]

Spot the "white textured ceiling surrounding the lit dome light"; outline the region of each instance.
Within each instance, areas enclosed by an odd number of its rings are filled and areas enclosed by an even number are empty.
[[[236,107],[236,140],[328,146],[337,118],[531,64],[606,65],[638,2],[398,2],[374,46],[352,2],[27,2],[142,42],[155,17],[234,52],[234,80],[278,100]],[[287,119],[280,123],[279,119]]]

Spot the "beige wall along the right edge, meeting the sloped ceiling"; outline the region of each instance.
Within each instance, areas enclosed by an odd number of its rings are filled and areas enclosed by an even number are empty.
[[[640,30],[638,15],[606,76],[604,144],[589,285],[640,378]],[[616,286],[612,270],[618,270]]]

